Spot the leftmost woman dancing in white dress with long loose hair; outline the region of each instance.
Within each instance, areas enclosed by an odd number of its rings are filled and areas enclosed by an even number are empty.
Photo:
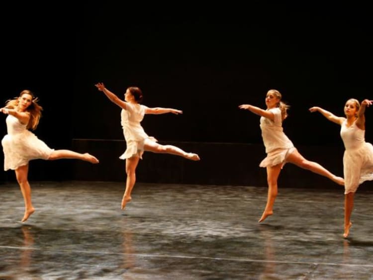
[[[98,163],[97,158],[89,153],[78,153],[71,150],[51,149],[32,132],[39,124],[43,108],[38,104],[29,90],[23,90],[19,97],[7,100],[0,112],[6,117],[7,135],[1,140],[4,152],[4,170],[15,171],[17,182],[21,188],[25,211],[22,222],[26,221],[35,211],[31,203],[31,188],[28,182],[28,162],[32,159],[55,160],[60,158],[75,158],[91,163]]]

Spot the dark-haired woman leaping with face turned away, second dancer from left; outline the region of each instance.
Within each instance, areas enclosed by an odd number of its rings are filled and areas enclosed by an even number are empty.
[[[98,90],[105,93],[110,101],[122,108],[121,111],[121,125],[123,128],[124,138],[126,140],[127,148],[125,152],[119,157],[126,160],[126,189],[124,191],[121,209],[124,209],[126,204],[131,201],[131,192],[136,182],[136,167],[139,159],[142,159],[144,151],[151,151],[155,153],[169,153],[185,157],[190,160],[199,160],[199,156],[195,153],[188,153],[172,145],[161,145],[153,137],[149,137],[140,122],[144,118],[144,114],[182,114],[183,111],[170,108],[148,108],[141,105],[143,94],[138,87],[128,87],[124,100],[118,98],[114,93],[105,88],[104,84],[99,82],[95,84]]]

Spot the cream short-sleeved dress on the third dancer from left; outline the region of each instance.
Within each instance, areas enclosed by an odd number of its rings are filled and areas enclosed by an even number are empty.
[[[282,163],[282,168],[288,155],[296,149],[283,133],[280,108],[271,108],[268,111],[274,114],[274,120],[272,121],[266,117],[260,118],[260,128],[267,157],[262,160],[259,166],[275,166]]]

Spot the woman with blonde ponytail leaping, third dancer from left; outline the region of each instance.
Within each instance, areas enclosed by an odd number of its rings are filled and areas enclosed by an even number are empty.
[[[266,110],[249,104],[239,106],[241,109],[261,116],[260,128],[267,157],[262,160],[259,166],[267,168],[268,197],[266,208],[259,222],[273,214],[273,206],[278,194],[277,181],[286,162],[325,176],[339,185],[344,184],[343,178],[330,173],[320,164],[305,159],[283,133],[282,121],[287,117],[286,111],[289,106],[281,102],[281,93],[278,90],[270,89],[267,92],[266,105]]]

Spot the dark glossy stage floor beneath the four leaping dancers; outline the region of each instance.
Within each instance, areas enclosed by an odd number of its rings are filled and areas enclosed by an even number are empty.
[[[31,182],[0,185],[0,279],[372,279],[373,190],[357,193],[343,233],[343,190]]]

